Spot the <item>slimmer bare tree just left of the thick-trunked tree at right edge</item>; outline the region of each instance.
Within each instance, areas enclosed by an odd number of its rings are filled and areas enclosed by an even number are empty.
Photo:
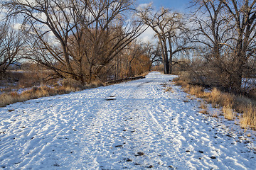
[[[210,83],[209,79],[213,79],[213,75],[218,74],[218,79],[213,81],[225,82],[226,71],[228,70],[228,64],[225,63],[225,51],[224,44],[228,43],[230,40],[230,32],[232,31],[232,26],[229,25],[230,18],[225,16],[223,13],[224,5],[223,2],[219,0],[208,1],[201,0],[196,1],[198,5],[198,10],[193,15],[192,18],[192,33],[193,33],[193,42],[196,42],[196,49],[198,54],[206,60],[206,64],[203,68],[198,70],[198,67],[194,72],[195,74],[198,71],[203,71],[201,74],[198,74],[198,80],[200,83]],[[197,64],[198,65],[198,64]],[[207,69],[210,69],[215,73],[210,73],[208,76]],[[202,77],[204,76],[204,77]],[[216,77],[215,77],[216,78]],[[206,82],[208,81],[208,82]]]

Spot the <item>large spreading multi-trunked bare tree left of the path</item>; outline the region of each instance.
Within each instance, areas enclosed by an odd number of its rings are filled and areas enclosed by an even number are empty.
[[[137,38],[142,24],[127,23],[129,0],[4,1],[7,17],[21,17],[31,34],[31,60],[55,77],[82,84],[99,78],[107,64]],[[122,21],[122,22],[120,22]]]

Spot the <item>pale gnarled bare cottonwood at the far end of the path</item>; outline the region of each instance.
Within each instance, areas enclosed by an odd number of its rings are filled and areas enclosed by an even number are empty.
[[[186,28],[181,13],[172,12],[167,8],[161,8],[154,12],[154,8],[147,6],[139,11],[138,16],[156,33],[161,47],[161,55],[164,62],[164,73],[171,74],[174,55],[191,49],[186,47]],[[183,36],[183,37],[182,37]]]

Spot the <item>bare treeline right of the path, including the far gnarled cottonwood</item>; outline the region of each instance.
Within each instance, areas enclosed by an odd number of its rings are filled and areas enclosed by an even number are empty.
[[[255,3],[195,0],[189,15],[168,8],[156,11],[152,6],[138,15],[156,33],[165,74],[175,66],[176,71],[186,71],[186,79],[193,84],[236,93],[242,91],[243,78],[256,73]]]

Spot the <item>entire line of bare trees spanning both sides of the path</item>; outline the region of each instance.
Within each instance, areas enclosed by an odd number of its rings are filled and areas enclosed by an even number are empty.
[[[2,1],[1,72],[22,57],[51,70],[47,79],[90,84],[161,65],[191,83],[240,92],[243,78],[256,75],[255,3],[194,0],[183,14],[132,0]],[[156,44],[138,41],[146,28]]]

